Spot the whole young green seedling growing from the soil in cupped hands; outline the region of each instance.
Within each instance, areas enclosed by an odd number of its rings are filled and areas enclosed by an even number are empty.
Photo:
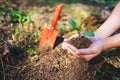
[[[76,22],[72,19],[68,20],[68,23],[69,23],[70,27],[73,30],[76,30],[78,35],[80,36],[81,28],[84,26],[84,24],[81,23],[79,26],[77,26]],[[85,32],[83,32],[83,35],[93,37],[94,32],[93,31],[85,31]]]

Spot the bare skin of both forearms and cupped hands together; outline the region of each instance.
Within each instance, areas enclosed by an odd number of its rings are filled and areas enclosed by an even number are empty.
[[[120,46],[120,33],[111,36],[120,28],[120,2],[116,5],[109,18],[94,32],[94,37],[87,37],[92,41],[88,48],[77,49],[75,46],[67,43],[72,38],[78,37],[77,34],[64,40],[62,48],[76,55],[85,61],[99,55],[102,51]]]

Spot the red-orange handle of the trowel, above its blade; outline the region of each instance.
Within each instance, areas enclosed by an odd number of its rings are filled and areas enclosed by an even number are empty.
[[[62,4],[57,4],[56,9],[55,9],[55,13],[54,13],[54,17],[52,20],[52,26],[51,29],[54,30],[58,21],[58,18],[60,16],[62,10]]]

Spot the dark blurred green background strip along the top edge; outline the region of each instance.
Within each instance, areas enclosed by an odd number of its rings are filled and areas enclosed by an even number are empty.
[[[94,5],[94,6],[100,6],[103,7],[105,5],[107,6],[114,6],[117,2],[120,0],[0,0],[2,4],[17,4],[18,6],[20,4],[27,4],[27,5],[36,5],[36,6],[46,6],[50,5],[53,6],[56,3],[65,3],[65,4],[75,4],[75,3],[83,3],[87,5]]]

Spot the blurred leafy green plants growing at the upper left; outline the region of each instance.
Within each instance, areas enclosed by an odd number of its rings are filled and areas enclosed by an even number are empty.
[[[3,17],[3,22],[6,23],[8,18],[9,22],[13,25],[15,23],[21,23],[22,26],[26,21],[32,22],[30,20],[30,14],[29,13],[23,13],[19,10],[14,10],[12,7],[4,7],[0,9],[0,16]]]

